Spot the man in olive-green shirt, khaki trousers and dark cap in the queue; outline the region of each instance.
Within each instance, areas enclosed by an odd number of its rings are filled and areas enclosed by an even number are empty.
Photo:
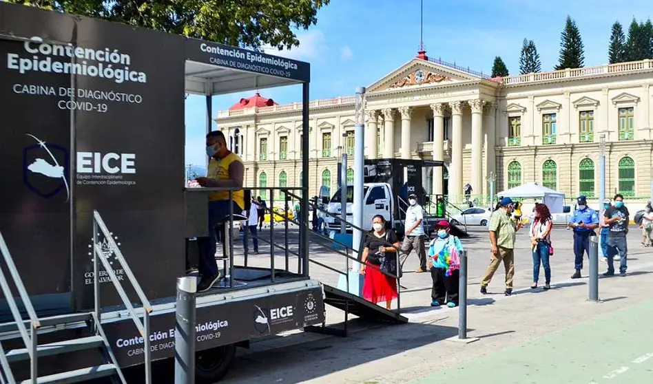
[[[481,293],[484,295],[488,293],[488,284],[502,261],[506,268],[506,296],[512,295],[512,277],[515,275],[515,235],[521,228],[521,220],[517,222],[511,217],[513,204],[515,202],[510,198],[501,199],[499,209],[490,217],[492,258],[481,280]]]

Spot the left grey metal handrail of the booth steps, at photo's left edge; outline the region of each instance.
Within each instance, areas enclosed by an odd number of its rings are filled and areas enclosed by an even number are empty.
[[[14,299],[14,295],[11,291],[11,288],[9,287],[8,280],[5,277],[2,268],[0,268],[0,287],[2,288],[2,293],[5,296],[5,299],[7,300],[12,317],[14,317],[16,326],[21,334],[23,343],[25,343],[25,348],[27,348],[29,351],[30,376],[32,378],[32,383],[37,383],[37,377],[38,377],[37,347],[39,345],[37,330],[41,327],[41,322],[39,321],[39,317],[37,317],[37,312],[34,311],[34,306],[32,306],[32,301],[30,301],[30,296],[28,295],[27,290],[25,290],[23,279],[21,279],[21,276],[18,273],[18,269],[16,268],[16,264],[14,264],[14,259],[11,257],[11,253],[9,252],[9,248],[7,247],[7,243],[5,242],[2,233],[0,233],[0,253],[2,254],[2,258],[4,259],[7,269],[9,270],[9,274],[11,275],[11,279],[14,283],[14,286],[16,286],[16,289],[18,290],[18,295],[21,298],[21,301],[23,301],[25,312],[27,312],[28,317],[30,319],[29,321],[30,332],[28,333],[27,327],[25,327],[25,323],[23,323],[23,317],[21,316],[21,312],[18,309],[16,299]],[[11,367],[7,360],[7,356],[1,345],[0,345],[0,365],[2,365],[2,370],[4,374],[4,377],[0,375],[0,378],[3,379],[2,383],[5,382],[16,383],[11,371]]]

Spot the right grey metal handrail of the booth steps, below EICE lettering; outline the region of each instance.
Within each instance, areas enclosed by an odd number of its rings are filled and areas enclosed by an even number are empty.
[[[141,304],[143,305],[143,321],[141,321],[141,317],[138,316],[138,314],[136,314],[136,310],[134,310],[134,306],[132,305],[132,302],[129,300],[129,297],[127,296],[127,292],[125,292],[125,289],[123,288],[120,281],[118,280],[118,277],[116,277],[116,273],[114,272],[114,269],[109,263],[109,260],[105,256],[101,244],[98,243],[98,235],[99,235],[98,229],[101,231],[102,235],[106,239],[107,245],[109,246],[109,250],[111,250],[111,252],[116,257],[116,260],[120,264],[121,268],[123,268],[123,270],[125,271],[125,275],[127,275],[127,279],[129,279],[129,283],[132,284],[132,288],[134,288],[134,291],[136,291],[136,295],[138,295],[138,299],[141,300]],[[141,336],[143,337],[144,354],[145,354],[145,361],[144,361],[145,383],[151,384],[152,383],[152,351],[150,348],[150,340],[149,340],[149,334],[150,334],[149,314],[153,311],[153,308],[152,305],[149,303],[149,300],[147,300],[147,297],[145,296],[145,292],[143,292],[143,289],[138,284],[136,277],[134,277],[134,273],[132,273],[132,269],[129,268],[129,264],[127,264],[127,262],[125,261],[125,257],[123,256],[123,253],[121,252],[120,248],[118,248],[118,244],[116,244],[116,240],[114,239],[112,233],[109,231],[109,228],[107,228],[107,225],[102,219],[102,216],[98,211],[93,210],[93,277],[94,277],[93,291],[94,291],[94,301],[95,301],[94,314],[99,322],[98,324],[96,324],[96,327],[100,327],[100,322],[101,322],[98,259],[100,259],[100,261],[102,262],[105,272],[109,276],[111,282],[114,284],[116,291],[118,291],[118,295],[123,300],[123,304],[125,305],[125,308],[127,308],[127,312],[129,312],[129,316],[132,317],[134,324],[136,324],[136,329],[138,329],[138,332],[140,332]]]

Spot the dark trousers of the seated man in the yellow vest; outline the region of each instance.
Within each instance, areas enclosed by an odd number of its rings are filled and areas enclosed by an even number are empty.
[[[229,203],[234,206],[234,213],[242,213],[242,208],[230,200],[218,200],[209,202],[209,236],[198,237],[197,244],[200,247],[199,272],[202,276],[218,275],[218,264],[216,264],[216,231],[223,231],[222,225],[216,230],[216,226],[223,222],[229,215]],[[225,239],[222,239],[224,242]]]

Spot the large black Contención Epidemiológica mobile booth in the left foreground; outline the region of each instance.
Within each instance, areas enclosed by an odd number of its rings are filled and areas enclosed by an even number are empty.
[[[152,382],[151,361],[174,353],[187,239],[207,233],[207,191],[182,182],[185,96],[206,96],[209,130],[211,96],[302,85],[308,153],[309,64],[8,3],[0,55],[3,382],[124,382],[143,363],[136,382]],[[284,190],[307,195],[308,180]],[[198,378],[224,374],[235,345],[324,321],[301,204],[285,265],[274,244],[265,267],[229,252],[198,297]]]

